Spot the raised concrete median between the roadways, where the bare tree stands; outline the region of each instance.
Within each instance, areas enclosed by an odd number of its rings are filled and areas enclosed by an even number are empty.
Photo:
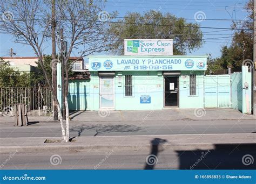
[[[208,135],[153,135],[153,136],[108,136],[76,137],[72,143],[44,143],[45,140],[60,140],[58,137],[0,138],[0,153],[40,151],[104,151],[149,150],[152,145],[165,149],[214,149],[217,144],[255,144],[253,133],[208,134]]]

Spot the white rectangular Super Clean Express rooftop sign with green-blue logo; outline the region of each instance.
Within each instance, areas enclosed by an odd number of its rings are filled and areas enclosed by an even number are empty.
[[[172,39],[125,39],[124,55],[173,55]]]

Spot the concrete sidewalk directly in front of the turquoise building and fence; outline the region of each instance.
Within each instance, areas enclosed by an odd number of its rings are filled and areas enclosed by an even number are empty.
[[[72,122],[173,121],[173,120],[243,120],[256,119],[234,109],[164,109],[137,111],[77,111],[70,113]],[[14,117],[0,117],[11,123]],[[52,117],[29,117],[29,122],[54,122]]]

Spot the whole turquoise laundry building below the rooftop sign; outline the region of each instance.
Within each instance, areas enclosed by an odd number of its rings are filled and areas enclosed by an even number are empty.
[[[207,56],[89,56],[90,80],[69,86],[71,110],[204,108]]]

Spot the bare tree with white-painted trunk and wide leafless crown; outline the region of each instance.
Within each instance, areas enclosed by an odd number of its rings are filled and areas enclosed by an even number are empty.
[[[1,0],[1,12],[3,20],[0,23],[1,31],[7,32],[14,36],[16,43],[30,45],[38,56],[39,65],[41,65],[46,82],[53,94],[53,100],[58,105],[58,117],[62,130],[62,138],[64,142],[69,141],[69,70],[68,65],[73,49],[77,50],[77,60],[95,52],[109,51],[112,48],[110,41],[109,25],[107,20],[115,15],[110,15],[100,9],[102,2],[100,1],[82,1],[82,0],[59,0],[56,7],[57,32],[63,30],[63,36],[68,41],[68,52],[63,53],[62,68],[64,69],[64,80],[62,92],[64,93],[64,105],[66,109],[65,125],[63,115],[61,113],[61,104],[53,91],[51,79],[46,74],[43,65],[44,51],[42,44],[50,38],[51,16],[50,4],[44,0]],[[57,34],[58,35],[58,34]],[[57,39],[59,51],[61,49],[62,40]],[[63,52],[63,51],[62,51]],[[77,60],[73,61],[75,63]],[[56,62],[56,61],[52,61]],[[57,63],[56,65],[57,66]]]

